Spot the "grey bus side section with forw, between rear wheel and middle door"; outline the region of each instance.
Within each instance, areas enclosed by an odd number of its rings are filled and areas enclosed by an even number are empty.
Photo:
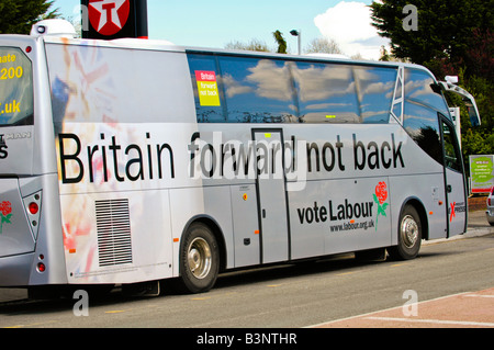
[[[258,264],[261,242],[251,127],[236,123],[201,123],[198,127],[200,137],[190,148],[191,171],[205,187],[205,213],[225,223],[221,230],[226,267]]]

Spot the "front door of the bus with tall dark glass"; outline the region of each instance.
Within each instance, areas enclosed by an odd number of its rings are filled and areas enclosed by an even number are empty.
[[[467,182],[454,126],[444,117],[441,117],[441,126],[448,201],[448,237],[451,237],[467,232]]]

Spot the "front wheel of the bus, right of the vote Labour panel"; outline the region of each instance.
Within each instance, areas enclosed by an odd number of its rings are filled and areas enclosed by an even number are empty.
[[[395,260],[415,259],[420,250],[422,223],[420,216],[413,205],[407,204],[403,208],[397,235],[397,246],[388,249],[390,257]]]

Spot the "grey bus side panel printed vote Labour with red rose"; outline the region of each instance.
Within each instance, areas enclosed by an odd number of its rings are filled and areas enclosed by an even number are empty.
[[[292,258],[390,245],[388,177],[308,181],[290,193]]]

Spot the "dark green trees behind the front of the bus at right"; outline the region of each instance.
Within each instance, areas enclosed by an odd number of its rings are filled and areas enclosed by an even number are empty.
[[[417,8],[418,27],[406,31],[403,8]],[[461,108],[462,150],[468,156],[494,154],[494,12],[483,0],[381,0],[371,5],[372,25],[391,39],[392,56],[424,65],[442,80],[459,76],[460,86],[474,98],[482,126],[472,127],[461,98],[448,103]],[[383,55],[389,58],[390,55]],[[468,169],[468,167],[467,167]]]

